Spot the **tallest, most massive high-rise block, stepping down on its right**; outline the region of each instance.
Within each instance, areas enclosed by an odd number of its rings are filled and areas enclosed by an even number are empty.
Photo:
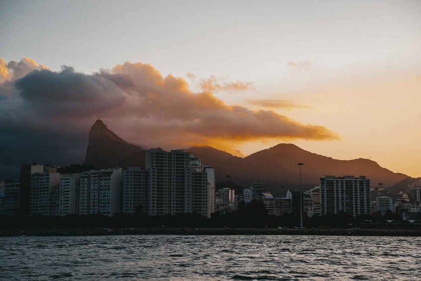
[[[164,215],[197,212],[210,216],[214,171],[182,150],[146,152],[147,213]],[[212,179],[213,175],[213,179]],[[214,187],[213,187],[214,188]]]

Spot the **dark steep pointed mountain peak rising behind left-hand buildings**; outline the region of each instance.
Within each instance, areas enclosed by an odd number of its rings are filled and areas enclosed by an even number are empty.
[[[96,120],[89,131],[85,165],[96,169],[110,167],[145,167],[145,150],[130,144]]]

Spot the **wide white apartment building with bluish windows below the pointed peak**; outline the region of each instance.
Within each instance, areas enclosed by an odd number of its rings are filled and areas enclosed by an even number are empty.
[[[121,168],[90,170],[80,180],[79,214],[120,213]]]

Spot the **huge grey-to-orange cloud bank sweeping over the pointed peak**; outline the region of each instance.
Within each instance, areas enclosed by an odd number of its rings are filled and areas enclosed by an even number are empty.
[[[338,138],[320,125],[230,105],[209,91],[193,93],[184,79],[163,77],[150,64],[125,62],[91,75],[36,67],[6,80],[11,89],[0,102],[2,166],[81,163],[97,118],[131,143],[165,149],[212,145],[240,154],[235,146],[250,140]]]

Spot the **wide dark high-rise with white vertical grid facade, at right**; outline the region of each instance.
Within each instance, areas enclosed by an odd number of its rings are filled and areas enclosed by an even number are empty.
[[[325,176],[320,178],[322,215],[340,211],[358,217],[370,214],[370,180],[365,176]]]

